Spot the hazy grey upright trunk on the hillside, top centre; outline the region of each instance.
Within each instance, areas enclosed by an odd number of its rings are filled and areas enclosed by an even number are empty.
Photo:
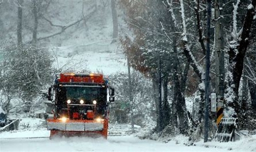
[[[111,10],[112,10],[112,19],[113,19],[113,36],[112,42],[115,43],[118,37],[118,21],[117,21],[117,12],[116,12],[116,2],[111,0]]]

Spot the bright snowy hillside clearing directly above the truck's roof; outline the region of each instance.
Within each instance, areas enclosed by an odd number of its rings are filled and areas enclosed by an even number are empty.
[[[126,72],[127,64],[124,54],[116,44],[109,44],[110,42],[52,47],[52,54],[55,58],[53,67],[60,71],[87,70],[104,75]]]

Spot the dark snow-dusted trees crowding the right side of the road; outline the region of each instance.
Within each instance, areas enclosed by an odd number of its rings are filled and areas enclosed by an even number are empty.
[[[204,110],[208,110],[204,108],[206,1],[121,1],[120,3],[126,9],[125,20],[133,32],[133,37],[121,38],[124,51],[130,58],[133,68],[154,81],[156,95],[163,93],[164,96],[155,99],[159,115],[157,131],[161,132],[165,127],[173,125],[178,127],[181,133],[187,134],[189,123],[193,122],[200,129],[204,120]],[[224,96],[224,115],[237,116],[240,120],[239,127],[243,129],[245,125],[242,125],[244,124],[242,120],[245,118],[245,113],[248,113],[250,107],[255,109],[255,89],[252,87],[255,85],[255,73],[251,67],[254,62],[249,59],[254,58],[252,35],[255,25],[253,24],[255,3],[254,0],[216,0],[211,4],[215,8],[215,16],[211,19],[209,31],[211,50],[209,91],[210,93],[218,91],[218,95]],[[215,39],[214,35],[221,38]],[[219,73],[219,70],[218,73],[214,72],[216,66],[221,67],[222,73]],[[244,85],[240,91],[242,74],[244,74],[242,79]],[[198,96],[194,101],[197,112],[187,113],[185,97],[191,90],[191,83],[197,84],[197,87],[193,86],[196,88],[194,92],[197,92],[195,95]],[[247,83],[249,85],[246,85]],[[251,93],[251,101],[248,98],[241,99],[240,92],[248,95],[248,91]],[[169,101],[166,100],[166,96],[170,95],[166,92],[171,92]]]

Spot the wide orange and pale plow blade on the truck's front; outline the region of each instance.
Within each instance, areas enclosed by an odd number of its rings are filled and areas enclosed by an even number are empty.
[[[47,120],[50,139],[55,136],[89,136],[107,139],[107,125],[107,120],[66,120],[65,122],[60,119]]]

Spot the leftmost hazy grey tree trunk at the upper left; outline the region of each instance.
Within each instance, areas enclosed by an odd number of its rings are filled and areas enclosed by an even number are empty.
[[[23,5],[23,0],[18,0],[18,24],[17,24],[18,47],[22,47],[22,5]]]

